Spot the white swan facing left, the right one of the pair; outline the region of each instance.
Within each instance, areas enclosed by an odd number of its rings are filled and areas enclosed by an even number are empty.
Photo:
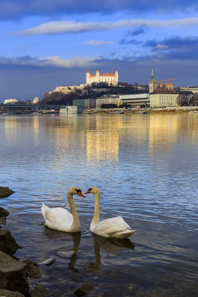
[[[122,217],[118,216],[115,218],[106,219],[99,221],[99,200],[100,192],[97,187],[89,188],[84,194],[95,194],[95,209],[94,217],[90,225],[90,230],[104,237],[114,238],[128,238],[135,233],[135,230],[131,230],[131,227],[123,220]]]

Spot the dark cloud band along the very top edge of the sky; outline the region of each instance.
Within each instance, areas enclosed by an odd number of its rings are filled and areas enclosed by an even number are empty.
[[[170,9],[171,7],[171,9]],[[1,0],[0,19],[17,20],[26,16],[45,15],[58,17],[63,14],[110,14],[116,11],[144,13],[148,11],[168,12],[196,11],[197,0]]]

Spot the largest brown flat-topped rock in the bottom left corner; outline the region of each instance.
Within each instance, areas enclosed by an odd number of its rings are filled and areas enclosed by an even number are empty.
[[[26,269],[27,264],[0,251],[0,288],[26,295],[29,291]]]

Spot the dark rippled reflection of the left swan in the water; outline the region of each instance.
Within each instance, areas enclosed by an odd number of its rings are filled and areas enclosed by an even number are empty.
[[[77,272],[77,269],[74,268],[74,265],[76,264],[76,260],[77,260],[77,253],[78,253],[79,245],[81,241],[81,232],[68,233],[68,232],[55,231],[46,227],[45,235],[50,240],[63,240],[65,241],[65,243],[67,243],[67,247],[65,248],[55,249],[53,251],[54,255],[57,256],[58,258],[63,258],[63,259],[68,259],[69,257],[70,262],[68,263],[68,269],[75,270]],[[73,245],[68,244],[68,239],[72,239]]]

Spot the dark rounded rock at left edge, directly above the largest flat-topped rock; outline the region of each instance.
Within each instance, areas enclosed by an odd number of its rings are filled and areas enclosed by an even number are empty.
[[[9,230],[0,230],[0,250],[12,256],[19,248]]]

